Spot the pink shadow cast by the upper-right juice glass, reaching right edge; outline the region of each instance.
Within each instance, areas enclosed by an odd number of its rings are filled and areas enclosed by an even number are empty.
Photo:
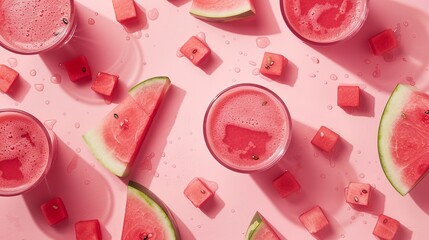
[[[391,92],[398,82],[408,83],[410,77],[416,86],[429,89],[428,81],[419,79],[429,63],[425,26],[429,16],[396,1],[370,1],[369,8],[368,19],[352,39],[313,48],[379,90]],[[374,56],[368,39],[386,28],[396,31],[399,47],[385,56]]]

